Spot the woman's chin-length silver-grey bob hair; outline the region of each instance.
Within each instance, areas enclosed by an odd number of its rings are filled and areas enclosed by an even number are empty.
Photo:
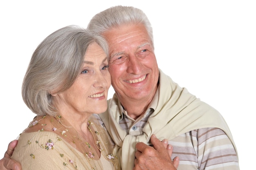
[[[96,42],[108,56],[105,39],[75,25],[50,34],[34,51],[22,83],[22,98],[37,115],[55,116],[52,95],[72,86],[81,73],[88,46]]]

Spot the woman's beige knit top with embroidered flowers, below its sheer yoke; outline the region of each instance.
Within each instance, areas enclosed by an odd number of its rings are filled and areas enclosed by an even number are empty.
[[[95,126],[94,130],[101,132]],[[95,160],[76,150],[65,141],[65,136],[51,131],[23,132],[12,159],[21,163],[22,170],[91,170],[92,167],[114,170],[113,163],[108,161],[108,155],[112,152],[109,150],[111,146],[108,146],[110,143],[101,135],[98,135],[98,139],[102,141],[100,145],[103,150],[100,159]],[[49,147],[46,149],[46,146]]]

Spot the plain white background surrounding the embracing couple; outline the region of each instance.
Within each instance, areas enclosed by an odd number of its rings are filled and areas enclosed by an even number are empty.
[[[159,67],[220,111],[233,134],[240,169],[252,169],[256,130],[254,0],[13,0],[0,2],[0,158],[35,116],[21,84],[36,46],[63,26],[86,27],[118,4],[142,9],[153,26]],[[113,94],[110,89],[109,97]],[[2,156],[1,156],[2,155]]]

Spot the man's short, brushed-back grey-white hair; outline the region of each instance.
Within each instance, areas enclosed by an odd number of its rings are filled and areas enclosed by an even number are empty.
[[[122,24],[141,23],[146,27],[150,40],[154,48],[153,29],[146,14],[135,7],[115,6],[110,7],[94,15],[87,28],[96,34],[102,35],[112,27]]]

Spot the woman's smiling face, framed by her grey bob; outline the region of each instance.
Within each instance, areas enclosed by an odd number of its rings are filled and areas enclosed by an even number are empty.
[[[106,53],[96,43],[89,45],[81,73],[63,93],[53,95],[53,103],[62,115],[103,113],[107,109],[110,74]]]

